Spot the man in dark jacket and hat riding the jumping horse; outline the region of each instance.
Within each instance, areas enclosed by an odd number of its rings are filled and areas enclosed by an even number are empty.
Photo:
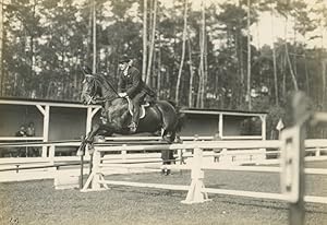
[[[120,97],[130,97],[133,103],[132,122],[129,126],[131,132],[135,132],[140,118],[140,105],[146,95],[155,97],[155,92],[150,90],[142,80],[140,71],[132,66],[132,60],[123,55],[119,60],[119,83],[118,92]]]

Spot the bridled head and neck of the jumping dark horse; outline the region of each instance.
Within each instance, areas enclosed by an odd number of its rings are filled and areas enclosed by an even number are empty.
[[[81,102],[85,105],[117,97],[117,92],[102,74],[85,73],[83,80]]]

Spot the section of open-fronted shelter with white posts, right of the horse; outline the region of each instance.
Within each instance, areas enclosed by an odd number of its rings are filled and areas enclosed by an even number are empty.
[[[222,140],[266,140],[267,112],[195,108],[181,111],[187,117],[182,135],[214,135],[219,133]]]

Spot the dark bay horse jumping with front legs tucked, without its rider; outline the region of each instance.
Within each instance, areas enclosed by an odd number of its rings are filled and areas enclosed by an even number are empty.
[[[77,155],[84,155],[85,145],[92,143],[97,134],[131,134],[128,127],[132,119],[129,102],[126,98],[118,96],[117,91],[106,76],[86,74],[81,98],[87,105],[101,103],[102,116],[106,121],[93,126],[92,131],[82,141]],[[145,116],[140,119],[136,133],[149,132],[155,134],[161,132],[162,140],[171,143],[182,127],[182,117],[183,115],[178,111],[172,102],[155,100],[145,108]]]

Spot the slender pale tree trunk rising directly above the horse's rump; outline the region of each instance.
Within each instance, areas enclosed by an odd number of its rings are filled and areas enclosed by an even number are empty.
[[[184,0],[184,27],[183,27],[183,43],[182,43],[182,58],[179,68],[177,87],[175,87],[175,103],[179,104],[180,100],[180,85],[181,85],[181,78],[183,71],[183,64],[185,60],[185,44],[186,44],[186,33],[187,33],[187,0]]]

